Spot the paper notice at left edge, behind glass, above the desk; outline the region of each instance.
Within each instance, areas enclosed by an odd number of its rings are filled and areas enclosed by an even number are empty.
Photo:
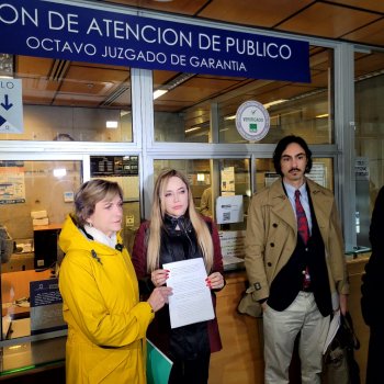
[[[23,161],[0,161],[0,204],[25,203]]]

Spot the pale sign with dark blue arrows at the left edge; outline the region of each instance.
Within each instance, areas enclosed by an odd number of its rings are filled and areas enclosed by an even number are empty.
[[[0,134],[23,132],[22,81],[0,78]]]

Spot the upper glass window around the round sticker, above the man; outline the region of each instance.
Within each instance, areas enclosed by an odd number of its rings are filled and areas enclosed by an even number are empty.
[[[248,143],[237,132],[236,111],[256,100],[271,117],[259,143],[295,132],[309,144],[332,144],[332,49],[310,47],[309,83],[154,71],[155,140]],[[156,91],[165,91],[161,95]]]

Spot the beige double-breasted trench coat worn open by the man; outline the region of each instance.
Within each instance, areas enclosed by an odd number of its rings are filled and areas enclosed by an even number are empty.
[[[348,294],[343,239],[334,194],[307,179],[316,219],[325,245],[332,307],[338,294]],[[273,279],[292,256],[297,241],[297,225],[281,179],[252,196],[248,210],[245,264],[252,298],[269,296]]]

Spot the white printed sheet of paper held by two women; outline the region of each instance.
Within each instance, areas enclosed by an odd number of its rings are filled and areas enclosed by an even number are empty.
[[[172,287],[172,295],[169,296],[171,328],[215,317],[202,258],[169,262],[162,268],[170,271],[167,285]]]

